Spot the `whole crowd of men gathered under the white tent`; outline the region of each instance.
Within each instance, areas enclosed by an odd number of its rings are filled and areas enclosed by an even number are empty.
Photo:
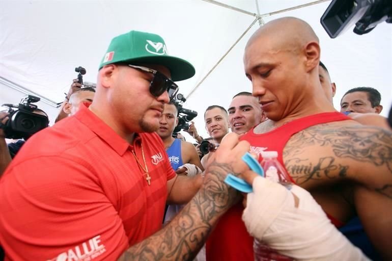
[[[173,103],[193,66],[159,35],[112,39],[96,88],[74,80],[53,126],[16,151],[0,129],[5,260],[392,259],[392,128],[374,88],[333,108],[320,49],[303,20],[263,25],[244,50],[249,92],[206,109],[208,139],[190,124],[194,146],[174,138]],[[242,160],[263,151],[277,151],[291,190]]]

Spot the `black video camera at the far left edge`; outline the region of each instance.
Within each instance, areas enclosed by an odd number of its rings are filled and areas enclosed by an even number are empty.
[[[38,107],[32,103],[39,100],[39,97],[27,95],[18,105],[8,103],[2,105],[9,108],[8,113],[10,114],[9,120],[5,124],[1,124],[7,139],[23,138],[26,140],[49,125],[46,113],[44,113],[45,115],[34,113]]]

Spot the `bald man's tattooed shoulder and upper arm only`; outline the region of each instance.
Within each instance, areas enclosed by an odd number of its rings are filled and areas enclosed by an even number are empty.
[[[293,135],[283,156],[287,170],[303,187],[342,179],[374,190],[392,184],[392,135],[380,128],[316,125]]]

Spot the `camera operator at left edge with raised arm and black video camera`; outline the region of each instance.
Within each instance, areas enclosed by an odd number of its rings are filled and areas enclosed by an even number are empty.
[[[32,103],[39,97],[28,95],[18,105],[4,104],[8,112],[0,112],[0,176],[25,141],[49,125],[47,114]],[[6,139],[19,139],[7,144]]]

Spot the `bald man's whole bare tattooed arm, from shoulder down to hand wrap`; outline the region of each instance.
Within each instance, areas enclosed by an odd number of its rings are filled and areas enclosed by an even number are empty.
[[[307,190],[335,188],[338,183],[350,186],[365,231],[383,256],[392,259],[392,133],[340,124],[320,124],[294,135],[285,147],[286,168]],[[318,201],[323,208],[326,200],[333,199],[328,195]]]

